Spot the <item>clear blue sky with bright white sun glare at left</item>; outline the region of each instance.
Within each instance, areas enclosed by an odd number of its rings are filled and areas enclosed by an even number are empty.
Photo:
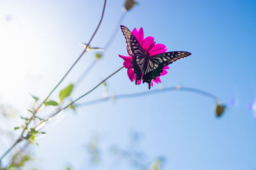
[[[102,4],[78,0],[1,1],[0,76],[5,80],[1,101],[14,104],[24,114],[33,102],[29,93],[45,97],[82,52],[83,46],[78,43],[90,39]],[[122,1],[107,2],[92,46],[106,44],[122,5]],[[90,169],[84,148],[93,132],[100,134],[100,147],[106,151],[112,143],[126,146],[130,132],[139,131],[143,134],[140,147],[148,159],[166,158],[163,169],[256,169],[256,120],[249,107],[256,102],[255,8],[256,2],[249,0],[139,1],[127,12],[123,25],[130,30],[143,27],[145,36],[154,36],[170,51],[192,53],[170,66],[169,73],[161,78],[164,87],[182,83],[211,92],[227,104],[225,115],[214,116],[212,99],[179,91],[78,108],[77,115],[67,111],[58,124],[55,121],[45,128],[47,136],[33,148],[38,159],[31,166],[63,169],[71,164],[74,169]],[[84,55],[61,87],[79,78],[94,53]],[[117,54],[127,54],[120,31],[72,97],[90,90],[121,67],[123,60]],[[109,79],[108,86],[109,94],[148,90],[145,84],[131,83],[126,70]],[[152,89],[159,88],[154,85]],[[99,87],[82,101],[102,97],[102,89]],[[9,145],[0,141],[0,152]],[[107,155],[103,157],[99,169],[113,161]],[[131,168],[120,164],[117,169]]]

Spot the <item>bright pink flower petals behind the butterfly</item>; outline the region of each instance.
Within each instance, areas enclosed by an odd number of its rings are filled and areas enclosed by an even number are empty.
[[[135,38],[139,41],[142,49],[149,54],[149,57],[159,54],[159,53],[164,53],[166,52],[166,46],[162,44],[156,44],[154,41],[154,37],[152,36],[147,36],[144,38],[144,32],[142,27],[140,28],[139,31],[137,31],[136,28],[133,29],[132,34],[135,36]],[[127,51],[128,52],[128,51]],[[129,54],[129,52],[128,52]],[[132,56],[129,54],[129,56],[124,56],[124,55],[119,55],[122,59],[124,59],[124,67],[127,68],[127,74],[128,77],[130,78],[131,81],[136,80],[136,74],[134,73],[134,70],[132,69]],[[160,74],[160,76],[164,76],[168,72],[166,69],[170,69],[170,67],[165,66],[163,67],[163,72]],[[142,77],[141,77],[142,79]],[[155,80],[151,81],[151,86],[153,86],[153,81],[155,83],[161,83],[161,80],[159,76],[155,78]],[[138,81],[138,85],[140,85],[141,80]]]

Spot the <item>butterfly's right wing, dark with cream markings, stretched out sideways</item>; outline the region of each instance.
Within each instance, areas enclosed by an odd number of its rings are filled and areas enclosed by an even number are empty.
[[[176,60],[188,57],[189,55],[191,55],[189,52],[166,52],[149,57],[147,67],[143,69],[143,83],[148,83],[148,89],[150,89],[151,81],[160,76],[164,66],[168,66]]]

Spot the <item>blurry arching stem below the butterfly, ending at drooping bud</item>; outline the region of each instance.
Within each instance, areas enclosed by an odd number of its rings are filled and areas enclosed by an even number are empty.
[[[195,89],[195,88],[191,88],[191,87],[179,87],[179,88],[167,87],[164,89],[156,89],[156,90],[150,90],[150,91],[138,92],[138,93],[132,93],[132,94],[118,94],[118,95],[108,96],[108,97],[104,97],[104,98],[100,98],[100,99],[95,99],[92,101],[86,101],[84,103],[78,103],[78,104],[76,104],[76,106],[78,106],[78,107],[88,106],[90,104],[96,104],[96,103],[101,103],[104,101],[109,101],[112,98],[121,99],[121,98],[129,98],[129,97],[140,97],[140,96],[146,96],[146,95],[150,95],[150,94],[156,94],[159,92],[174,91],[174,90],[195,92],[196,94],[201,94],[203,96],[210,97],[211,99],[214,99],[214,101],[216,101],[216,102],[219,101],[217,96],[215,96],[214,94],[211,94],[209,92],[205,92],[204,90]]]

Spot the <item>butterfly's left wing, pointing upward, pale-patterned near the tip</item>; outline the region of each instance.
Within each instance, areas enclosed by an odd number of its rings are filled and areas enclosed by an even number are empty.
[[[135,83],[138,84],[138,81],[141,80],[143,67],[145,64],[145,52],[142,49],[139,41],[135,38],[127,27],[121,25],[121,30],[124,34],[126,44],[127,44],[127,52],[132,56],[132,68],[134,69],[134,73],[136,74]]]

